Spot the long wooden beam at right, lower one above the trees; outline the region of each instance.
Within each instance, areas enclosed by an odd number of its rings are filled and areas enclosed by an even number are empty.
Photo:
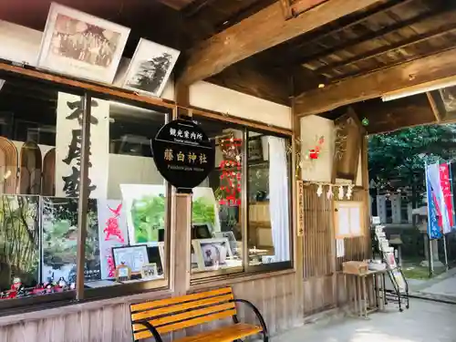
[[[318,114],[390,92],[435,86],[456,78],[455,59],[456,48],[451,48],[396,67],[347,78],[299,95],[295,98],[295,112],[299,116]]]

